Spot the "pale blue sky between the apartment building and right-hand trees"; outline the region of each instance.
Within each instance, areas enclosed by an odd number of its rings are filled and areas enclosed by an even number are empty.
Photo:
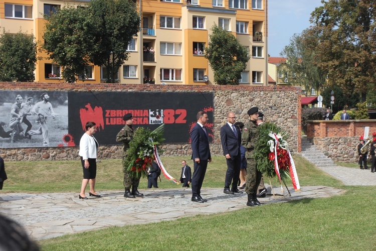
[[[268,0],[268,54],[279,57],[290,38],[311,25],[311,13],[319,6],[321,0]]]

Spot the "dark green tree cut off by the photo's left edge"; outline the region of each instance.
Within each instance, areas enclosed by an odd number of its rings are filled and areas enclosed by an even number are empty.
[[[33,82],[37,62],[34,36],[22,33],[0,35],[0,81]]]

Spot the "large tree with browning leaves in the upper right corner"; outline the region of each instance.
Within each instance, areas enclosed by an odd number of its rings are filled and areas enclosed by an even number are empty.
[[[366,93],[376,83],[376,0],[328,0],[311,14],[306,47],[328,72],[328,85],[345,95]]]

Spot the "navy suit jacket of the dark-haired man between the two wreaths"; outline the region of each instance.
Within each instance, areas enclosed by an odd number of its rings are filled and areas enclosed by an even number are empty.
[[[199,123],[196,123],[191,131],[191,143],[192,143],[192,159],[200,160],[212,159],[209,148],[208,134]]]

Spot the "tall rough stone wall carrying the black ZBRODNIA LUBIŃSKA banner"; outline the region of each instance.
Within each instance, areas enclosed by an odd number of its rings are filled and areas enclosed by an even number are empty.
[[[161,91],[214,93],[214,140],[212,155],[222,155],[220,128],[227,122],[227,112],[233,111],[236,120],[248,121],[247,111],[258,106],[268,122],[274,122],[291,134],[289,140],[293,151],[301,151],[301,88],[294,86],[222,86],[222,85],[149,85],[105,83],[0,83],[1,90],[65,90],[65,91]],[[115,136],[114,136],[115,137]],[[0,141],[1,144],[1,141]],[[100,142],[99,142],[100,144]],[[98,159],[121,158],[120,145],[100,146]],[[190,156],[190,144],[165,144],[162,156]],[[76,160],[78,147],[49,148],[1,148],[0,156],[5,161],[30,160]]]

